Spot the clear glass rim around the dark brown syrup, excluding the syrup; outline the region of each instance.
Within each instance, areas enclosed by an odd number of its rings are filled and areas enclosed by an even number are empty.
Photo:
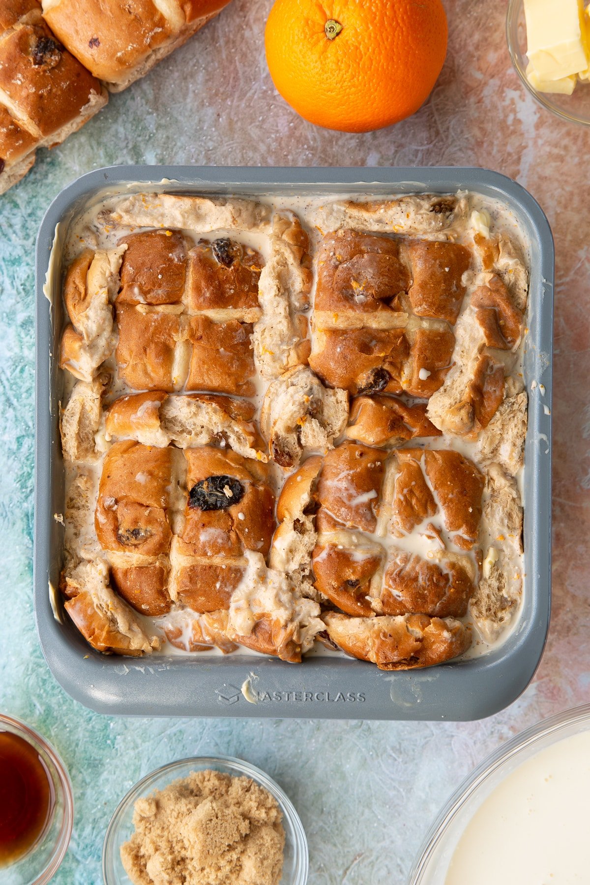
[[[0,732],[19,735],[31,744],[42,758],[53,784],[53,809],[50,818],[31,848],[9,866],[0,868],[2,885],[46,885],[65,858],[73,826],[73,793],[70,778],[57,752],[25,722],[0,713]]]

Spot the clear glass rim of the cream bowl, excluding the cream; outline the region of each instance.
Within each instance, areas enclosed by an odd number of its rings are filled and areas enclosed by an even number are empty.
[[[590,704],[542,720],[494,750],[466,778],[434,821],[411,869],[408,885],[444,885],[465,827],[498,784],[540,750],[585,731],[590,731]]]

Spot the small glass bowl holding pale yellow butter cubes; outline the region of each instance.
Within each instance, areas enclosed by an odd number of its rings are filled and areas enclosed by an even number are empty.
[[[590,126],[590,4],[510,0],[506,37],[525,88],[548,111]]]

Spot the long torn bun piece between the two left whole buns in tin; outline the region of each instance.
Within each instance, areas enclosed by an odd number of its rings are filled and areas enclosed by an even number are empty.
[[[107,439],[133,439],[144,445],[180,449],[218,443],[244,458],[266,463],[264,440],[253,421],[253,404],[230,396],[164,391],[130,394],[115,400],[106,413]]]

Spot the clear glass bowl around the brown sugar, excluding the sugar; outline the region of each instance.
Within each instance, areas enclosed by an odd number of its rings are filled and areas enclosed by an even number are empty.
[[[172,781],[185,778],[191,772],[203,771],[206,768],[234,776],[245,775],[272,794],[283,812],[283,827],[285,828],[285,859],[280,885],[305,885],[309,873],[307,839],[302,822],[299,820],[299,815],[295,812],[291,800],[268,774],[256,766],[251,766],[249,762],[243,762],[241,759],[231,756],[202,756],[171,762],[169,765],[157,768],[155,772],[147,774],[129,790],[115,810],[104,837],[104,885],[131,885],[131,880],[121,863],[119,850],[134,832],[133,812],[136,800],[149,796],[155,789],[164,789]]]

